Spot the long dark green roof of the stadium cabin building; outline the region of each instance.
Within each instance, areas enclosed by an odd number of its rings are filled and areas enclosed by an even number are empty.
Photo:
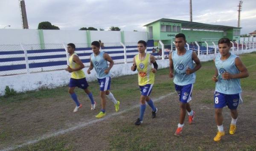
[[[189,29],[203,29],[203,30],[218,30],[218,31],[226,31],[228,29],[241,29],[241,27],[232,27],[232,26],[223,26],[223,25],[212,25],[207,23],[197,23],[197,22],[190,22],[185,20],[172,20],[167,18],[161,18],[159,20],[156,20],[152,23],[158,22],[158,21],[165,21],[165,22],[172,22],[172,23],[181,23],[182,28],[189,28]],[[148,23],[144,26],[148,26],[152,23]]]

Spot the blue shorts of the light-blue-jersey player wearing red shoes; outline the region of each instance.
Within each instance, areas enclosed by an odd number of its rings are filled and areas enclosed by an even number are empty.
[[[175,84],[175,90],[180,97],[180,102],[182,103],[189,103],[189,101],[192,100],[192,90],[193,90],[193,84],[188,85],[176,85]]]

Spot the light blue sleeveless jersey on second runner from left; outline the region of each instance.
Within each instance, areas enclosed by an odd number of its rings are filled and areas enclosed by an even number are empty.
[[[100,52],[97,56],[94,56],[94,53],[90,55],[98,79],[110,77],[110,72],[108,74],[104,72],[108,68],[108,61],[104,59],[103,54],[104,52]]]

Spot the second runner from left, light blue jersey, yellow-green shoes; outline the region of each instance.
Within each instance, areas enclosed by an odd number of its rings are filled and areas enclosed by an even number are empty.
[[[101,97],[101,105],[102,109],[95,117],[102,118],[106,115],[105,107],[106,107],[106,96],[110,99],[116,108],[116,112],[119,111],[119,104],[120,102],[115,99],[113,94],[109,91],[110,90],[110,69],[113,67],[114,62],[112,58],[104,52],[99,51],[100,44],[98,41],[93,41],[91,43],[91,47],[93,53],[90,55],[90,67],[87,70],[87,74],[90,74],[90,71],[95,68],[96,77],[98,78],[99,82],[99,89],[100,89],[100,97]],[[108,67],[108,62],[109,67]]]

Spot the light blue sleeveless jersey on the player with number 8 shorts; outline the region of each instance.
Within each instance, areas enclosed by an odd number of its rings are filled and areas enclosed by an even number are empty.
[[[235,54],[230,53],[230,57],[227,60],[221,60],[221,54],[218,54],[215,58],[215,66],[218,70],[218,82],[215,85],[215,91],[223,94],[238,94],[242,92],[240,79],[222,79],[222,74],[226,71],[230,74],[238,74],[240,71],[235,65]]]

